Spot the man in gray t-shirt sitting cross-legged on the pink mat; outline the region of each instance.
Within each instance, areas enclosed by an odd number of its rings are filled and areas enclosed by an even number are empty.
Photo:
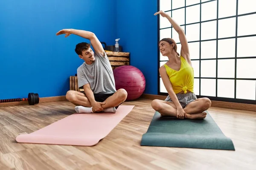
[[[125,89],[116,91],[113,71],[101,42],[96,35],[90,31],[63,29],[56,35],[75,34],[90,40],[90,44],[81,42],[76,45],[76,54],[84,60],[84,63],[77,69],[79,89],[84,89],[84,93],[78,91],[67,91],[66,98],[76,105],[77,113],[93,112],[113,112],[125,101],[127,92]]]

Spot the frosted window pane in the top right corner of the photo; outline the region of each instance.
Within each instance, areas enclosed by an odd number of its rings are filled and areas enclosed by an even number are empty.
[[[238,1],[238,14],[246,14],[255,12],[256,1],[255,0],[239,0]]]

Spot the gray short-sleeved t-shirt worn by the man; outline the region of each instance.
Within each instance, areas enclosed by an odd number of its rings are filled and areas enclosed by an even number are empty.
[[[95,61],[88,65],[85,62],[77,69],[78,86],[90,84],[93,94],[110,94],[116,92],[115,79],[108,56],[94,53]]]

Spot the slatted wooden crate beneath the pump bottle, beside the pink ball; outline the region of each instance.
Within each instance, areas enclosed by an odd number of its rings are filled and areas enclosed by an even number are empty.
[[[112,69],[121,65],[130,65],[130,53],[106,51]]]

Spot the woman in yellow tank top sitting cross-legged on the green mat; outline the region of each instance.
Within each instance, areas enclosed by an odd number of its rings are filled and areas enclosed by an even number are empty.
[[[159,42],[160,52],[168,57],[168,62],[159,68],[163,84],[168,92],[166,99],[154,99],[151,103],[155,111],[164,116],[175,116],[178,119],[204,119],[206,111],[211,106],[208,98],[200,98],[194,94],[194,70],[189,57],[189,45],[183,29],[163,11],[160,14],[166,17],[179,34],[181,43],[180,54],[177,45],[171,38],[164,38]]]

